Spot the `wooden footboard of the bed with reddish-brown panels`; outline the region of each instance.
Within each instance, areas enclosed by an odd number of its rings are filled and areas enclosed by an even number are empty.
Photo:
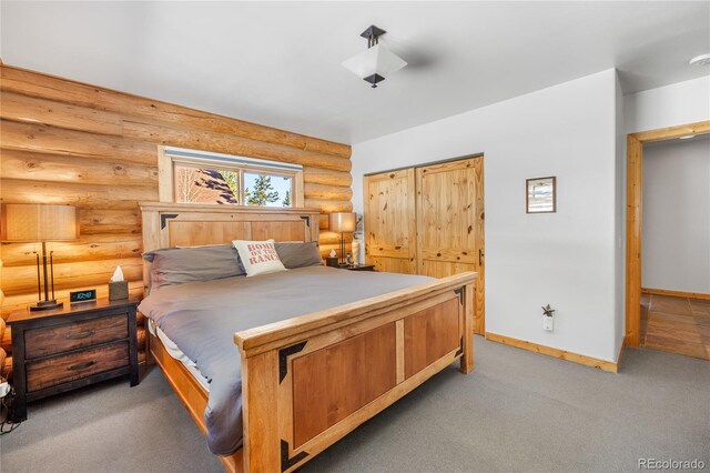
[[[457,359],[469,373],[476,276],[237,332],[244,470],[293,471]]]

